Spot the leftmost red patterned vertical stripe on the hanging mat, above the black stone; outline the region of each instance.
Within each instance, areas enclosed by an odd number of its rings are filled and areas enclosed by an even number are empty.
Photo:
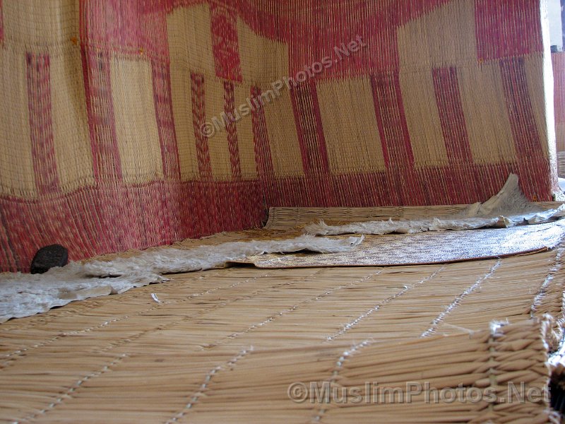
[[[55,193],[59,190],[59,175],[53,141],[49,56],[28,53],[25,60],[35,185],[40,194]]]

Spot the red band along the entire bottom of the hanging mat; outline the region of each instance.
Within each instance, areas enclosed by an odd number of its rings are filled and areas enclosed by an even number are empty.
[[[547,161],[533,158],[525,162],[526,170],[532,172],[534,167],[542,168],[543,172],[549,172]],[[464,203],[474,203],[475,201],[484,201],[496,194],[500,187],[506,181],[510,172],[517,172],[516,165],[496,164],[496,165],[472,165],[463,164],[460,167],[463,175],[469,175],[476,172],[477,178],[481,181],[480,186],[469,194]],[[441,175],[436,170],[420,170],[417,177],[423,181],[429,182],[422,187],[422,193],[425,201],[429,204],[448,204],[448,195],[446,189],[441,182]],[[335,192],[336,202],[340,206],[388,206],[391,199],[387,197],[384,187],[387,186],[386,172],[377,172],[369,174],[357,175],[341,175],[333,176],[326,180],[326,184],[330,185]],[[433,182],[433,183],[432,183]],[[143,184],[141,187],[122,187],[118,191],[115,188],[96,188],[90,187],[80,190],[73,194],[64,196],[63,199],[57,200],[59,206],[49,206],[49,201],[23,200],[15,198],[0,199],[0,218],[4,219],[4,223],[0,222],[0,243],[9,243],[8,240],[18,240],[11,242],[11,252],[6,252],[7,261],[0,262],[0,271],[16,271],[20,269],[27,271],[33,254],[42,245],[52,242],[59,242],[61,245],[70,247],[71,259],[78,260],[84,257],[90,257],[94,254],[103,254],[107,252],[115,252],[113,244],[107,242],[107,237],[115,237],[121,242],[119,250],[128,248],[143,249],[150,245],[162,245],[170,240],[182,240],[186,237],[200,237],[208,235],[213,230],[206,228],[204,221],[201,220],[197,213],[199,210],[208,211],[210,204],[201,204],[203,193],[210,189],[218,189],[221,184],[227,186],[232,183],[196,183],[196,182],[154,182]],[[263,194],[256,182],[239,182],[239,188],[242,192],[249,194],[246,197],[246,207],[249,208],[248,220],[246,220],[246,228],[252,228],[260,225],[265,209],[262,207]],[[283,178],[266,182],[271,184],[270,191],[280,194],[276,206],[311,206],[309,205],[309,194],[311,190],[309,182],[306,178]],[[468,184],[471,184],[470,182]],[[213,187],[213,185],[215,187]],[[525,192],[538,196],[541,201],[550,200],[549,192],[542,191],[544,187],[539,182],[533,180],[521,180],[522,188]],[[198,187],[199,186],[199,187]],[[398,180],[398,189],[402,186],[402,182]],[[547,187],[545,187],[547,189]],[[397,189],[395,187],[395,189]],[[283,195],[288,194],[288,196]],[[113,213],[120,214],[126,212],[124,220],[120,221],[120,225],[111,226],[102,215],[102,208],[113,208],[108,203],[108,199],[119,196],[121,201],[116,205],[116,209],[112,209]],[[150,206],[145,206],[145,200],[155,198],[157,201]],[[98,201],[100,199],[100,201]],[[225,214],[232,211],[232,203],[225,199],[219,199],[220,206],[225,207]],[[178,208],[179,221],[182,225],[178,228],[167,228],[165,232],[156,232],[155,235],[149,235],[153,232],[153,227],[160,217],[149,216],[154,213],[155,208],[167,207],[167,204]],[[270,205],[275,202],[270,203]],[[415,199],[407,197],[405,204],[417,204]],[[53,213],[62,216],[61,222],[71,221],[70,232],[63,232],[61,235],[54,235],[54,229],[46,231],[45,221],[52,220]],[[143,217],[143,215],[147,215]],[[143,220],[143,223],[141,223]],[[2,225],[9,235],[2,236]],[[238,228],[227,228],[225,230],[236,230]],[[32,237],[30,237],[32,235]],[[77,238],[78,237],[78,238]],[[7,240],[6,240],[7,239]],[[84,249],[82,246],[85,246]],[[0,254],[0,258],[2,255]]]

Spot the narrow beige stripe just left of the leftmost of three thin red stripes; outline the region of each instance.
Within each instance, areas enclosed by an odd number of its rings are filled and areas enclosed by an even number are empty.
[[[179,60],[171,61],[170,71],[174,131],[177,134],[181,178],[186,181],[199,176],[192,119],[191,71]]]

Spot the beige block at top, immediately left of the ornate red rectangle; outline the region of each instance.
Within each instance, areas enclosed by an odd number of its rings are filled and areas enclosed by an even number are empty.
[[[210,6],[174,8],[167,16],[171,60],[184,61],[191,71],[215,75]]]

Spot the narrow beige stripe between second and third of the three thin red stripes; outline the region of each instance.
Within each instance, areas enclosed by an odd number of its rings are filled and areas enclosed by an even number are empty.
[[[234,86],[234,106],[240,116],[239,121],[235,124],[237,146],[239,147],[239,161],[244,179],[256,179],[257,177],[253,119],[251,119],[251,109],[247,105],[247,99],[250,97],[251,87],[246,85]]]

